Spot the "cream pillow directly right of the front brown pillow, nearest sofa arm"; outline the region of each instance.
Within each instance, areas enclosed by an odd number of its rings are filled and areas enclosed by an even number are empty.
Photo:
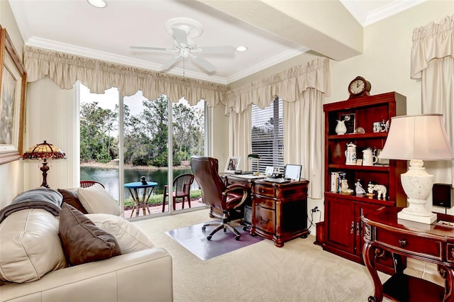
[[[114,235],[120,245],[121,254],[153,248],[153,242],[128,220],[109,214],[87,214],[93,223]]]

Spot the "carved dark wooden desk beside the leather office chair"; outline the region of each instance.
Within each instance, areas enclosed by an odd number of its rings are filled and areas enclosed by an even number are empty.
[[[309,181],[277,184],[260,179],[228,176],[228,183],[245,183],[251,188],[253,221],[251,235],[260,235],[283,247],[296,237],[307,237],[307,185]]]

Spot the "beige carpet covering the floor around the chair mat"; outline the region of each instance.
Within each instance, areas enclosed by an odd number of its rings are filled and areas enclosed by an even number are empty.
[[[165,234],[207,218],[201,210],[134,223],[172,255],[175,302],[367,301],[374,292],[364,266],[323,251],[312,235],[281,248],[263,240],[202,261]]]

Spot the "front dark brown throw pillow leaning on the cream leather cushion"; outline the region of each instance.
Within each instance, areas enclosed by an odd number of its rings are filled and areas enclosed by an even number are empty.
[[[60,212],[58,233],[67,262],[72,266],[121,255],[114,236],[67,203],[63,203]]]

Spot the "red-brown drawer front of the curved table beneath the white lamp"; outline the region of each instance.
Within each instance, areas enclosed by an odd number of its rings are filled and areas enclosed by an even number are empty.
[[[442,260],[443,243],[416,235],[399,234],[376,229],[376,241],[403,252],[411,252],[432,259]]]

